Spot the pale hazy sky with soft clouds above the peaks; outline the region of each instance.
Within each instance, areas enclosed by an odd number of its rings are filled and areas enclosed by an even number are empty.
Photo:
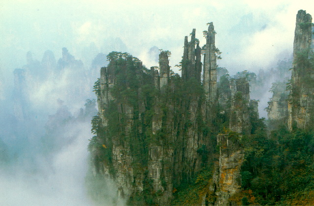
[[[153,46],[171,51],[174,66],[184,36],[196,28],[204,43],[202,31],[213,22],[223,52],[219,66],[258,71],[291,53],[299,9],[314,15],[312,0],[2,0],[0,69],[21,67],[28,51],[41,60],[51,50],[58,59],[62,47],[88,64],[117,37],[147,67],[156,64],[147,54]]]

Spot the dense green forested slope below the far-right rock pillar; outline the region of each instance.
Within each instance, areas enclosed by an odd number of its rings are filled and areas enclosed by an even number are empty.
[[[261,205],[313,205],[314,132],[285,128],[248,139],[242,187]],[[308,194],[308,195],[307,195]]]

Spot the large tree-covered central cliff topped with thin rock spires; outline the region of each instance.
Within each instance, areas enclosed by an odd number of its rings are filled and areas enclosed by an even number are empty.
[[[216,65],[211,59],[205,67],[211,76],[204,77],[204,95],[195,41],[193,29],[191,41],[184,42],[182,78],[170,74],[168,52],[159,54],[159,69],[147,70],[119,52],[111,52],[109,65],[101,69],[95,85],[97,136],[90,143],[94,171],[115,180],[131,204],[170,204],[174,188],[189,182],[213,153],[214,129],[206,112],[217,102],[216,73],[210,73]],[[215,58],[214,41],[209,45],[206,55]]]

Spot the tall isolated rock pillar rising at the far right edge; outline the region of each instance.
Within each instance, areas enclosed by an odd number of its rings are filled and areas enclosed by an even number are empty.
[[[299,10],[293,43],[293,70],[288,100],[288,128],[307,129],[314,124],[314,68],[310,58],[312,17]]]

